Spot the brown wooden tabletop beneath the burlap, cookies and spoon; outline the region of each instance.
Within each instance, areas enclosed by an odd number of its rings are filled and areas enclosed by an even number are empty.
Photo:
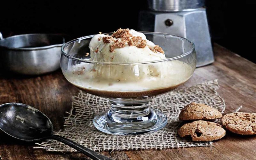
[[[191,86],[219,79],[218,92],[225,99],[229,113],[239,106],[242,112],[256,112],[256,64],[214,44],[215,62],[197,68],[185,84]],[[52,120],[56,131],[62,128],[65,112],[77,89],[66,81],[61,71],[34,77],[0,76],[0,104],[20,102],[34,106]],[[34,143],[17,141],[0,133],[0,159],[87,159],[80,153],[47,152],[33,149]],[[163,150],[101,152],[114,159],[256,159],[256,136],[227,132],[211,147]]]

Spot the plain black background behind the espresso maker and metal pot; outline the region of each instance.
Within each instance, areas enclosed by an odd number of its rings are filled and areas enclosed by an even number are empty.
[[[254,61],[256,2],[206,0],[212,42]],[[0,4],[4,37],[26,33],[58,33],[68,38],[138,28],[146,0],[8,1]]]

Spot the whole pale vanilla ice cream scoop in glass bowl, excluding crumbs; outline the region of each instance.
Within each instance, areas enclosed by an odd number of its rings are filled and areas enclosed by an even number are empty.
[[[143,33],[129,30],[131,37],[141,37],[145,40],[146,46],[139,48],[130,46],[128,41],[125,42],[124,47],[115,48],[113,52],[110,51],[110,46],[115,44],[116,41],[121,42],[122,38],[113,38],[112,42],[104,43],[103,37],[110,37],[104,34],[95,35],[89,45],[91,51],[90,60],[99,62],[115,62],[115,63],[136,63],[147,62],[153,60],[166,59],[164,52],[152,51],[156,46],[151,41],[146,39]],[[131,38],[130,37],[130,38]],[[148,76],[159,76],[161,70],[164,69],[161,63],[143,64],[143,65],[99,65],[95,64],[90,67],[91,71],[94,70],[93,77],[108,78],[116,81],[123,80],[138,80]],[[166,69],[166,68],[165,68]],[[160,75],[161,76],[161,75]]]

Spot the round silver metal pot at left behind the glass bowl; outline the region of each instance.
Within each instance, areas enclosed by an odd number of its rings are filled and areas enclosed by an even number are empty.
[[[0,37],[1,38],[1,37]],[[0,40],[0,65],[7,72],[40,75],[60,68],[62,36],[25,34]]]

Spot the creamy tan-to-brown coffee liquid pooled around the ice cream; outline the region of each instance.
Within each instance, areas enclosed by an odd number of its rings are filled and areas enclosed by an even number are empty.
[[[170,65],[168,69],[165,66],[154,68],[159,73],[157,76],[137,76],[138,79],[135,80],[130,78],[116,81],[121,79],[118,75],[108,78],[104,73],[101,77],[95,71],[85,71],[80,74],[70,72],[64,75],[71,84],[93,95],[107,98],[141,98],[156,96],[175,89],[185,83],[194,71],[194,68],[178,60],[164,64]],[[97,73],[97,76],[91,76],[94,73]],[[125,74],[121,76],[124,79]]]

